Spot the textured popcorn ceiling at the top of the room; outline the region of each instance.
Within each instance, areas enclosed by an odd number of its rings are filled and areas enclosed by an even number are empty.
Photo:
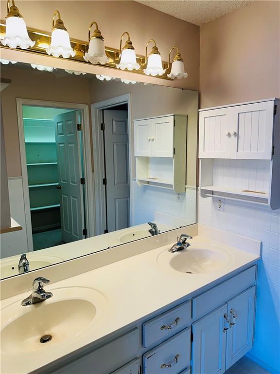
[[[251,0],[252,1],[252,0]],[[184,21],[203,25],[224,16],[251,1],[243,0],[138,0],[161,12],[170,14]]]

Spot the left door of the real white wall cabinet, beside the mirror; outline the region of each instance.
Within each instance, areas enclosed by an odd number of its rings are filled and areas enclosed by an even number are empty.
[[[233,147],[232,108],[211,109],[199,113],[199,157],[230,158]]]

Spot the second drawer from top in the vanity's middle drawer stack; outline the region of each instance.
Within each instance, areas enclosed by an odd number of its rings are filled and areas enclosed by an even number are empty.
[[[179,374],[191,363],[191,327],[143,355],[144,374]]]

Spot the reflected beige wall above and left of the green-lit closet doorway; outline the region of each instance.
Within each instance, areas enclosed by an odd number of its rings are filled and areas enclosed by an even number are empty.
[[[21,175],[16,98],[89,104],[88,78],[1,66],[12,82],[1,92],[8,177]]]

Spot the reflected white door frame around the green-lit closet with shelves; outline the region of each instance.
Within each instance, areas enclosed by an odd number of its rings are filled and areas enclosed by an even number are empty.
[[[32,252],[33,249],[33,237],[32,237],[32,224],[31,224],[31,210],[29,201],[29,188],[28,188],[28,175],[27,175],[27,163],[26,163],[26,151],[25,151],[25,139],[24,139],[24,126],[23,126],[23,115],[22,106],[37,106],[37,107],[48,107],[48,108],[59,108],[59,109],[73,109],[80,110],[83,115],[83,161],[84,161],[84,172],[85,172],[85,197],[86,197],[86,227],[88,230],[88,237],[95,235],[94,229],[94,201],[93,201],[93,185],[92,185],[92,167],[91,167],[91,145],[90,145],[90,129],[89,129],[89,108],[87,104],[75,104],[65,103],[61,101],[47,101],[47,100],[32,100],[32,99],[21,99],[17,98],[17,113],[18,113],[18,136],[19,136],[19,149],[21,159],[21,173],[22,173],[22,187],[23,187],[23,201],[24,201],[24,212],[26,222],[26,234],[27,234],[27,248],[28,252]]]

